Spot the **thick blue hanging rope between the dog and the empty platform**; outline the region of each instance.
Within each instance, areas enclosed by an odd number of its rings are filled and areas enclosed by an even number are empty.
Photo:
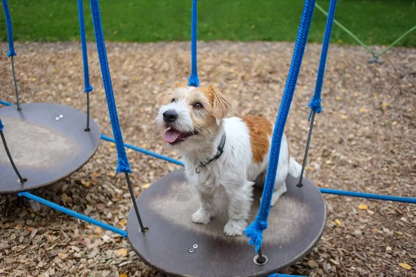
[[[114,100],[114,93],[112,89],[110,69],[108,68],[107,51],[105,50],[103,26],[101,24],[100,5],[98,4],[98,0],[91,0],[90,3],[92,20],[94,22],[98,58],[100,60],[101,74],[103,75],[105,96],[107,97],[108,113],[110,114],[114,141],[116,143],[117,155],[119,157],[119,161],[117,162],[117,172],[131,173],[132,171],[130,170],[127,154],[125,154],[123,135],[121,134],[119,116],[117,116],[116,102]]]

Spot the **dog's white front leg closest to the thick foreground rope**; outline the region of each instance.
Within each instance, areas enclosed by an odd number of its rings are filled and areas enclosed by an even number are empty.
[[[250,215],[252,204],[252,187],[254,182],[243,181],[241,184],[224,186],[229,198],[228,222],[224,226],[225,235],[242,235]]]

